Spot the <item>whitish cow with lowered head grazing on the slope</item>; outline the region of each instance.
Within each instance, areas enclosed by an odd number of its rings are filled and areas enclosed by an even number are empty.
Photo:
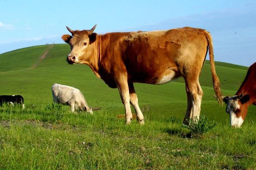
[[[77,88],[54,83],[52,85],[53,102],[70,105],[72,112],[75,110],[87,111],[93,114],[92,108],[87,105],[84,95]]]

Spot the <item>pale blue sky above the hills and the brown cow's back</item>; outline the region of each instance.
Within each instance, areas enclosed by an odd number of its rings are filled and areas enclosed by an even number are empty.
[[[64,43],[72,29],[151,31],[191,26],[212,34],[215,60],[256,62],[255,0],[0,0],[0,54],[46,43]]]

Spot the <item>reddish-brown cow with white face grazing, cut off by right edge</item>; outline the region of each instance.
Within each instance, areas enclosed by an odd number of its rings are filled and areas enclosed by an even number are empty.
[[[226,96],[226,111],[230,115],[230,125],[240,127],[247,115],[249,105],[256,105],[256,62],[250,66],[247,75],[235,96]]]

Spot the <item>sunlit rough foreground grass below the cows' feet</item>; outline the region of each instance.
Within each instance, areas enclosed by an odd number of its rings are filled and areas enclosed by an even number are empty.
[[[256,130],[218,123],[190,138],[181,119],[124,125],[115,113],[70,113],[59,120],[44,106],[0,111],[0,169],[253,169]]]

